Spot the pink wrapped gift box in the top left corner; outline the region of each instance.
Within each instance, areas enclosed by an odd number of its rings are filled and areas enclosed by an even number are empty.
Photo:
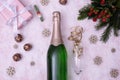
[[[15,13],[13,7],[17,7],[18,14]],[[18,28],[24,26],[31,18],[32,14],[19,0],[0,1],[0,15],[2,15],[9,25],[12,25],[17,18]]]

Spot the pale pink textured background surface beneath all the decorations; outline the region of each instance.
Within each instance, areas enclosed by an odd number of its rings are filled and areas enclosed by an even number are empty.
[[[58,3],[58,0],[50,0],[48,6],[41,6],[40,0],[20,0],[25,5],[38,4],[43,16],[44,22],[40,22],[39,18],[34,18],[27,26],[22,28],[20,32],[24,35],[24,41],[18,43],[19,48],[14,49],[14,41],[12,27],[5,25],[4,19],[0,19],[0,80],[47,80],[46,70],[46,54],[50,44],[50,37],[43,37],[44,28],[50,29],[52,32],[52,12],[60,11],[62,15],[62,36],[68,51],[68,80],[120,80],[120,76],[112,78],[110,70],[112,68],[120,70],[120,37],[116,38],[111,35],[109,41],[104,44],[98,41],[96,44],[90,44],[89,37],[92,34],[101,36],[103,30],[96,31],[95,23],[91,20],[77,21],[78,10],[82,8],[90,0],[68,0],[66,6]],[[71,27],[82,26],[84,28],[82,45],[84,47],[83,56],[80,60],[80,69],[82,72],[76,75],[73,68],[72,60],[72,42],[68,41]],[[31,43],[33,49],[29,52],[23,50],[25,43]],[[111,48],[116,49],[116,53],[111,53]],[[12,56],[20,52],[23,58],[19,62],[14,62]],[[101,65],[95,65],[93,59],[100,56],[103,59]],[[30,62],[35,61],[35,66],[30,66]],[[10,77],[6,73],[6,68],[13,66],[16,69],[14,76]]]

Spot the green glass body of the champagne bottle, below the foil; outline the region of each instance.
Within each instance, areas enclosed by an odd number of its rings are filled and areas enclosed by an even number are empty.
[[[50,45],[47,55],[47,80],[67,80],[67,52],[63,44]]]

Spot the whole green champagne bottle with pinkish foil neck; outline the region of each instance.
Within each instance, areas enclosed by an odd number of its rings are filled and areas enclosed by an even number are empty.
[[[60,30],[60,12],[53,12],[53,33],[47,53],[47,80],[67,80],[67,52]]]

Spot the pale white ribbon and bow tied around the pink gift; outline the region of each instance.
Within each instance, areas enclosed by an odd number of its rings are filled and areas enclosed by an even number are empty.
[[[8,0],[8,1],[4,1],[4,0],[0,0],[0,2],[2,3],[2,6],[0,7],[0,12],[4,9],[7,8],[9,11],[14,13],[14,16],[11,17],[8,21],[7,21],[7,25],[9,26],[13,26],[13,32],[16,35],[17,33],[19,33],[18,31],[18,18],[19,15],[25,13],[28,10],[31,10],[32,6],[29,5],[27,7],[25,7],[24,9],[22,9],[21,11],[18,12],[18,6],[16,5],[11,5],[11,3],[13,2],[13,0]]]

